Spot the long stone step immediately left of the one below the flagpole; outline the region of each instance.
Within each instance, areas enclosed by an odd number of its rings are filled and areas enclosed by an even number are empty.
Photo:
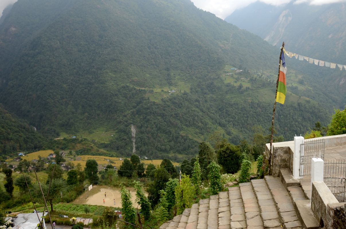
[[[252,180],[251,184],[255,191],[256,201],[260,206],[264,228],[282,228],[280,216],[265,180]]]

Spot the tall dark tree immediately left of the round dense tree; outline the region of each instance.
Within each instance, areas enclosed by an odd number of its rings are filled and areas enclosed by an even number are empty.
[[[213,147],[211,147],[209,142],[201,142],[199,144],[199,163],[201,165],[202,176],[206,178],[208,176],[207,167],[212,161],[216,161],[216,154]]]

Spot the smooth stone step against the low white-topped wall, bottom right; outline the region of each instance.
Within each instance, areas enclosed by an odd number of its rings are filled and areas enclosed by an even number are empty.
[[[298,213],[298,218],[304,228],[317,229],[320,228],[312,210],[310,200],[297,200],[295,201],[295,209]]]

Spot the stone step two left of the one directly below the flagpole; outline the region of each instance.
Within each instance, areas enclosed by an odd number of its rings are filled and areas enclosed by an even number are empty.
[[[264,227],[260,216],[260,208],[258,207],[257,199],[252,189],[251,183],[240,183],[239,188],[244,203],[247,228],[263,229]]]

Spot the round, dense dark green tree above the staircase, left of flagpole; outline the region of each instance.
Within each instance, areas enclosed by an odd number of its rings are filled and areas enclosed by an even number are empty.
[[[222,165],[226,173],[238,172],[242,163],[240,148],[229,143],[222,146],[218,151],[218,162]]]

